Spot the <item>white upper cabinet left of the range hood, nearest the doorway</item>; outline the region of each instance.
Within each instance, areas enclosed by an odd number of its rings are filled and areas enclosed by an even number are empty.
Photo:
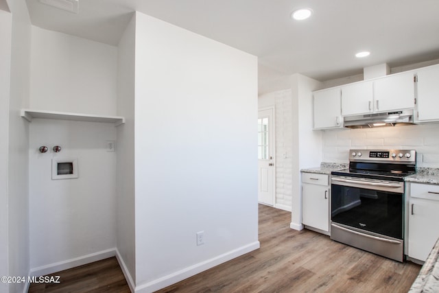
[[[313,92],[313,129],[342,128],[340,87]]]

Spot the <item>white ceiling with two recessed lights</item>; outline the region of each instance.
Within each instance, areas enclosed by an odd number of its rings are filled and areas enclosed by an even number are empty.
[[[439,58],[438,0],[79,0],[78,14],[26,2],[47,30],[117,45],[137,10],[258,56],[265,69],[320,81]],[[304,7],[311,18],[290,18]]]

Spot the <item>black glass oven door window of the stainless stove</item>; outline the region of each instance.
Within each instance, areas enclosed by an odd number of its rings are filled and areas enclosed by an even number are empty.
[[[403,194],[333,184],[331,220],[403,239]]]

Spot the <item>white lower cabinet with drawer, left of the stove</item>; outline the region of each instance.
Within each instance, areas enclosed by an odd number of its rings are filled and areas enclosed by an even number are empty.
[[[329,234],[329,176],[302,173],[302,224]]]

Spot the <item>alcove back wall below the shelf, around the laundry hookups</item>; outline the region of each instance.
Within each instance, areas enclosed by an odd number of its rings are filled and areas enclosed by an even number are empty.
[[[56,272],[59,262],[115,248],[116,153],[106,150],[106,141],[116,140],[115,126],[34,119],[29,132],[32,272]],[[49,151],[40,153],[41,145]],[[54,145],[61,152],[51,150]],[[54,158],[78,159],[79,177],[52,180]]]

